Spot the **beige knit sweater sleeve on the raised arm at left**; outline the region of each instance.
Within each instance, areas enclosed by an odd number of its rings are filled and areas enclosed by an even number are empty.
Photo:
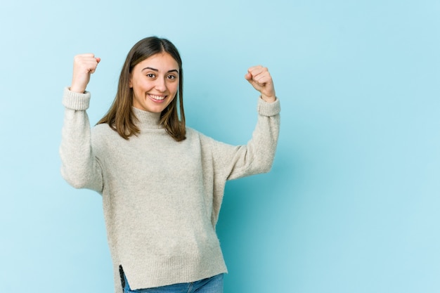
[[[64,124],[60,144],[61,175],[75,188],[88,188],[101,193],[103,176],[91,146],[91,128],[86,109],[90,93],[64,90]]]

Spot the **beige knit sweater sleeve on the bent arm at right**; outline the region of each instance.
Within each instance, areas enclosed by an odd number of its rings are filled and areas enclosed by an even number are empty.
[[[228,145],[212,140],[212,162],[216,176],[232,180],[271,170],[280,131],[280,101],[257,104],[257,126],[246,145]]]

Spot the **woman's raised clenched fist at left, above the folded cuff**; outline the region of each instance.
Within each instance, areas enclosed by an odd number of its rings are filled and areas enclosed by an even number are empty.
[[[90,81],[90,74],[95,72],[101,58],[95,58],[92,53],[79,54],[73,58],[73,77],[70,91],[84,93]]]

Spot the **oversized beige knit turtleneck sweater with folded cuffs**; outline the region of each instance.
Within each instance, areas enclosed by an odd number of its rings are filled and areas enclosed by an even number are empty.
[[[160,113],[132,108],[140,134],[125,140],[108,124],[91,129],[91,95],[64,91],[61,174],[102,195],[115,292],[122,268],[131,289],[226,273],[215,226],[227,180],[267,172],[275,156],[280,103],[259,98],[247,145],[215,141],[189,127],[176,142]]]

